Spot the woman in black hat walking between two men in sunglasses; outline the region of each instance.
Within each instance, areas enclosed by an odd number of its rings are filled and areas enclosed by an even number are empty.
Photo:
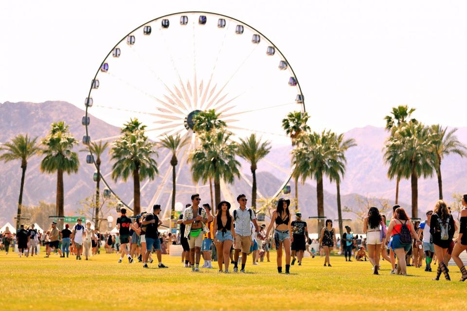
[[[213,224],[213,228],[217,228],[216,235],[214,236],[214,243],[216,244],[217,250],[217,264],[219,265],[219,272],[222,272],[222,262],[224,262],[225,273],[229,273],[229,255],[235,236],[234,225],[229,209],[229,202],[220,202],[217,205],[217,213]]]

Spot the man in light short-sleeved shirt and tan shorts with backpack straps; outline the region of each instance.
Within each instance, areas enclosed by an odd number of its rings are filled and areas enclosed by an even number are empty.
[[[245,264],[247,263],[247,255],[250,253],[250,247],[253,245],[251,240],[251,223],[254,225],[254,234],[257,235],[259,232],[258,223],[256,217],[251,208],[247,207],[247,197],[245,194],[237,196],[237,202],[240,205],[234,210],[234,222],[235,222],[235,238],[234,238],[234,272],[238,272],[238,257],[240,251],[242,252],[242,268],[241,273],[245,273]]]

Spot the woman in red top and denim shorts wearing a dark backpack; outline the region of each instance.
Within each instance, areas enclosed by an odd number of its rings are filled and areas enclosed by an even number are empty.
[[[418,235],[413,229],[409,216],[402,207],[397,207],[393,219],[389,223],[386,234],[386,243],[393,237],[391,247],[397,256],[397,274],[407,276],[407,264],[405,256],[412,246],[412,238],[420,242]]]

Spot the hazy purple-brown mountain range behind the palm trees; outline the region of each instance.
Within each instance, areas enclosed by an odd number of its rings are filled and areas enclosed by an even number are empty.
[[[66,102],[45,103],[10,103],[0,104],[0,142],[5,143],[18,133],[29,134],[32,137],[43,138],[54,121],[65,121],[70,125],[70,131],[75,138],[81,141],[85,135],[85,128],[81,125],[84,111]],[[120,129],[104,121],[91,117],[92,132],[91,139],[108,138],[119,135]],[[346,138],[354,138],[358,146],[353,147],[346,153],[347,166],[345,177],[341,183],[342,206],[356,207],[358,200],[364,198],[385,198],[393,204],[395,196],[395,181],[387,178],[387,168],[382,158],[382,148],[388,133],[384,128],[366,126],[355,128],[345,133]],[[467,143],[467,128],[460,128],[457,132],[458,138]],[[83,149],[80,144],[75,151]],[[275,145],[272,141],[272,149],[258,165],[257,181],[259,197],[272,196],[288,176],[290,171],[290,146]],[[186,152],[185,152],[186,154]],[[86,164],[86,152],[80,152],[80,168],[77,174],[64,176],[65,186],[65,214],[74,215],[80,207],[80,201],[92,195],[95,183],[92,181],[94,166]],[[41,173],[39,170],[41,156],[34,156],[28,162],[26,172],[25,190],[23,195],[24,205],[38,205],[39,201],[55,202],[56,175]],[[111,164],[108,155],[103,156],[102,174],[109,186],[114,190],[122,201],[131,206],[132,182],[121,180],[113,182],[108,176]],[[171,167],[168,151],[160,149],[158,156],[159,176],[153,181],[143,181],[142,185],[142,207],[148,207],[157,202],[162,208],[170,206],[172,190]],[[240,159],[242,163],[243,178],[228,185],[230,191],[224,191],[224,197],[234,201],[238,193],[246,193],[251,196],[251,173],[248,163]],[[179,163],[183,166],[177,180],[176,201],[182,203],[190,202],[193,192],[200,193],[203,201],[211,202],[208,186],[196,185],[191,178],[189,165],[186,157],[179,156]],[[449,202],[453,192],[464,192],[467,182],[467,159],[457,155],[449,155],[442,163],[444,196]],[[0,224],[6,221],[14,221],[17,209],[19,181],[21,177],[19,161],[0,163]],[[435,176],[434,176],[435,177]],[[293,195],[294,184],[289,182]],[[299,206],[304,214],[316,216],[316,182],[305,181],[299,184]],[[104,185],[101,186],[104,188]],[[225,189],[225,187],[224,187]],[[324,183],[324,206],[325,215],[329,218],[337,218],[336,187],[325,181]],[[287,196],[287,195],[283,195]],[[432,207],[438,197],[436,178],[419,180],[419,209],[424,211]],[[401,202],[411,202],[410,181],[402,180],[400,184]],[[410,207],[407,206],[410,210]],[[355,217],[344,213],[344,218]]]

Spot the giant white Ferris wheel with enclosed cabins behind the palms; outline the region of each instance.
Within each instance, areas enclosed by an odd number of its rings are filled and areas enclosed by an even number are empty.
[[[199,111],[215,109],[234,139],[256,133],[273,144],[290,144],[282,120],[289,112],[305,111],[298,80],[279,49],[248,24],[209,12],[158,17],[125,35],[91,80],[85,106],[83,143],[118,138],[93,135],[94,118],[119,128],[130,118],[138,118],[154,141],[177,134],[189,139],[177,155],[177,197],[201,193],[208,186],[187,177],[191,176],[188,155],[197,146],[192,119]],[[163,201],[165,215],[170,211],[170,157],[160,150],[158,179],[142,182],[142,209]],[[93,163],[92,155],[87,162]],[[110,166],[101,170],[108,187],[104,195],[113,192],[130,207],[132,195],[126,188],[131,185],[113,182]],[[247,176],[241,176],[251,184]],[[287,184],[287,176],[276,195]],[[221,190],[225,199],[233,200],[229,187],[221,184]]]

